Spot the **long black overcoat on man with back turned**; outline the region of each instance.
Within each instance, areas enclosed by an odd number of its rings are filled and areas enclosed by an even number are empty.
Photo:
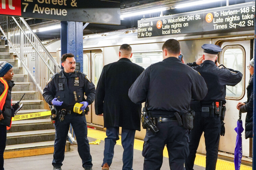
[[[104,116],[104,127],[140,130],[141,104],[134,104],[128,90],[144,68],[121,58],[103,67],[95,98],[95,113]]]

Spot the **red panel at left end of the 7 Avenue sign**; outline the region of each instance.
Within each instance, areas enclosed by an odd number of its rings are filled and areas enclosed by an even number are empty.
[[[0,0],[0,14],[21,16],[21,0]]]

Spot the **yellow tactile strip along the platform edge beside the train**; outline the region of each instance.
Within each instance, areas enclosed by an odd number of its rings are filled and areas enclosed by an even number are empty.
[[[91,137],[91,138],[95,138],[95,139],[101,139],[101,140],[104,140],[107,137],[106,132],[99,131],[99,130],[94,130],[94,129],[89,129],[89,128],[88,128],[88,135],[87,136]],[[121,136],[119,136],[119,138],[120,139],[117,141],[117,144],[122,145],[121,144]],[[135,139],[134,140],[134,149],[142,150],[143,149],[143,143],[144,143],[143,140]],[[164,147],[163,156],[168,158],[168,151],[167,151],[166,147]],[[205,167],[205,156],[197,154],[196,155],[196,160],[195,160],[195,165]],[[219,160],[219,159],[217,160],[216,170],[234,170],[234,169],[235,169],[235,167],[234,167],[233,162]],[[241,165],[240,170],[252,170],[252,167]]]

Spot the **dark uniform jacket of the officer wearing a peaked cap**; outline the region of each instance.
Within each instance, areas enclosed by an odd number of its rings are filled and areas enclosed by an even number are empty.
[[[206,60],[197,65],[188,63],[190,67],[198,71],[207,84],[208,93],[201,102],[211,103],[223,101],[226,103],[226,85],[235,86],[242,79],[242,73],[233,69],[219,68],[213,61]]]

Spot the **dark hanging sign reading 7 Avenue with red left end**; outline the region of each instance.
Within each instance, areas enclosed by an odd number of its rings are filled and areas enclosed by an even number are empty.
[[[119,0],[0,0],[0,15],[121,24]]]

